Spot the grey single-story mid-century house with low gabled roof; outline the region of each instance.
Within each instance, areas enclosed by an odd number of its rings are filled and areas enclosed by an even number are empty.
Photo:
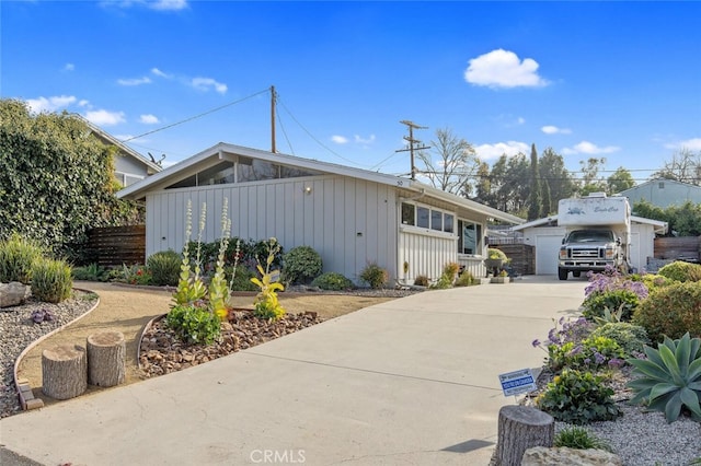
[[[276,237],[286,251],[311,246],[324,271],[358,282],[371,263],[390,280],[437,279],[455,261],[475,276],[487,222],[522,219],[416,180],[228,143],[214,145],[117,193],[146,201],[146,254],[182,251],[186,206],[194,235],[206,203],[203,241],[221,236],[228,199],[231,234]]]

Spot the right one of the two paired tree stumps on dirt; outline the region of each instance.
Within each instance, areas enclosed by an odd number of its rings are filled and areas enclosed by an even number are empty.
[[[120,331],[103,331],[88,337],[88,382],[111,387],[124,382],[126,345]]]

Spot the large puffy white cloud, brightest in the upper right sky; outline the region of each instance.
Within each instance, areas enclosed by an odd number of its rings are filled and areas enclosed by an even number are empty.
[[[541,88],[549,82],[538,75],[538,62],[532,58],[522,61],[513,51],[502,48],[472,58],[464,71],[470,84],[489,88]]]

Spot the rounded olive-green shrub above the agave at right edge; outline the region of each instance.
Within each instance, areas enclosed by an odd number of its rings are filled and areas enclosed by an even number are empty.
[[[674,283],[656,290],[637,307],[633,323],[645,327],[654,343],[665,335],[681,338],[689,331],[701,336],[701,284]]]

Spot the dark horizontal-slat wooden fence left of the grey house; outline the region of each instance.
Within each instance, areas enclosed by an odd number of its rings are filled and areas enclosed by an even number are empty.
[[[146,225],[108,226],[88,233],[88,260],[100,266],[143,264]]]

